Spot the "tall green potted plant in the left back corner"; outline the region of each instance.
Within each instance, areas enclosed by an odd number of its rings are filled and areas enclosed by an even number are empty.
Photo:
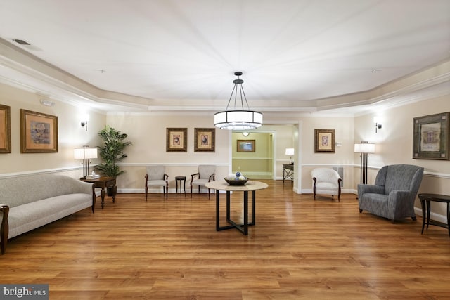
[[[103,139],[103,145],[97,147],[98,155],[103,160],[103,163],[98,164],[96,170],[100,171],[104,176],[113,178],[124,174],[125,171],[120,170],[117,162],[127,157],[124,149],[131,145],[131,142],[124,141],[128,136],[127,133],[120,133],[120,131],[106,125],[104,129],[98,131],[98,136]],[[108,195],[115,195],[117,186],[114,186],[114,189],[108,188]]]

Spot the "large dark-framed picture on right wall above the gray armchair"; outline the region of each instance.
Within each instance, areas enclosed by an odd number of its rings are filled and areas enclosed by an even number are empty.
[[[414,118],[413,158],[449,160],[450,112]]]

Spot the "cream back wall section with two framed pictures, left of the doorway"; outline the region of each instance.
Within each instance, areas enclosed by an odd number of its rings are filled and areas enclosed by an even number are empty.
[[[120,164],[126,173],[117,178],[117,188],[122,192],[143,193],[149,164],[165,165],[171,191],[176,187],[175,176],[186,176],[188,187],[199,164],[216,165],[216,178],[225,178],[231,172],[231,131],[215,130],[215,152],[194,152],[195,128],[214,129],[213,119],[213,114],[108,113],[107,124],[127,133],[127,141],[132,143],[125,150],[127,159]],[[167,128],[187,129],[187,152],[166,152]],[[153,192],[162,193],[162,189]]]

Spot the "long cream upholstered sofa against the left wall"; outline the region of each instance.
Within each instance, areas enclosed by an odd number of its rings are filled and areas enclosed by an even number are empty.
[[[56,174],[0,178],[1,254],[8,239],[94,207],[94,185]]]

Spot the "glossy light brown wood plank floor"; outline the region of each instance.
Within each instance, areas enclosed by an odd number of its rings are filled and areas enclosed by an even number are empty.
[[[103,210],[98,198],[95,214],[10,240],[0,282],[48,283],[50,299],[450,299],[446,229],[420,235],[420,217],[392,224],[359,214],[355,195],[264,182],[248,236],[216,232],[206,194],[120,194]]]

